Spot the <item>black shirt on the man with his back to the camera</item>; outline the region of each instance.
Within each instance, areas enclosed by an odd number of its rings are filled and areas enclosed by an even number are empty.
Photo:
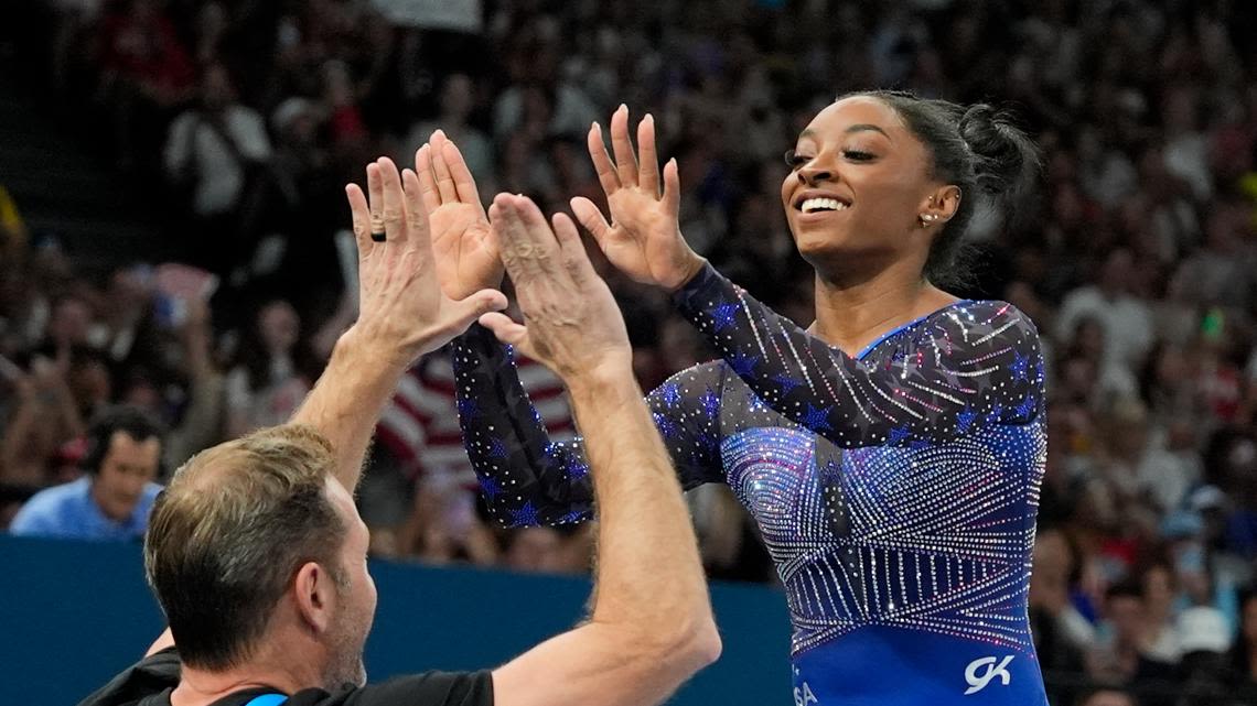
[[[170,647],[132,665],[79,706],[170,706],[178,676],[178,652]],[[215,706],[244,705],[263,693],[268,691],[250,688]],[[424,672],[362,687],[346,686],[334,693],[305,688],[284,706],[493,706],[493,678],[485,671]]]

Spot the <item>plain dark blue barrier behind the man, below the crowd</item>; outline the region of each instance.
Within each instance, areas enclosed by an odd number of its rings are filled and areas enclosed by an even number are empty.
[[[569,628],[588,580],[375,562],[371,680],[474,670]],[[788,618],[771,589],[711,589],[724,654],[669,703],[789,702]],[[140,548],[0,535],[0,675],[5,703],[73,706],[134,662],[162,629]]]

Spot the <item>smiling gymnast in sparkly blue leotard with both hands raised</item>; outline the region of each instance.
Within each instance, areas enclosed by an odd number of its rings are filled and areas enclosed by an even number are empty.
[[[1046,703],[1027,616],[1046,457],[1038,334],[1007,303],[935,285],[982,198],[1012,215],[1032,190],[1033,142],[985,104],[879,90],[822,109],[782,182],[816,270],[804,330],[685,244],[676,163],[660,173],[650,116],[640,163],[626,107],[611,139],[613,157],[590,131],[611,224],[586,198],[572,209],[722,357],[649,403],[681,484],[729,484],[762,530],[791,613],[796,705]],[[435,133],[416,157],[445,294],[498,286],[458,148]],[[454,363],[464,442],[498,520],[588,519],[581,441],[549,441],[510,347],[473,325]]]

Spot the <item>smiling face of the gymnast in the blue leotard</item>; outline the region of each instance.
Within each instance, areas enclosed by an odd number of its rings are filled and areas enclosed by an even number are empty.
[[[812,266],[850,271],[909,258],[924,265],[935,229],[919,217],[943,185],[928,176],[929,153],[894,108],[843,98],[812,119],[787,157],[782,205]]]

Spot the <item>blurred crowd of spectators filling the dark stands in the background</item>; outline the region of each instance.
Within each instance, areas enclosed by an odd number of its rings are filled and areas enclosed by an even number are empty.
[[[869,87],[1011,102],[1043,148],[1041,192],[1012,222],[978,219],[947,284],[1012,301],[1050,352],[1029,600],[1053,703],[1257,703],[1257,14],[1226,0],[486,0],[465,33],[390,20],[396,5],[43,5],[45,98],[151,190],[191,266],[77,260],[26,232],[0,190],[6,516],[83,474],[109,405],[162,425],[152,481],[284,420],[353,315],[343,183],[377,155],[412,163],[436,127],[481,197],[556,211],[600,195],[590,123],[620,103],[652,112],[686,239],[807,323],[810,270],[777,204],[781,155],[811,116]],[[644,388],[709,358],[660,293],[602,265]],[[361,492],[377,554],[585,570],[587,529],[483,519],[450,452],[447,368],[424,361],[386,416]],[[571,432],[553,378],[525,384]],[[691,502],[711,575],[773,580],[727,489]]]

